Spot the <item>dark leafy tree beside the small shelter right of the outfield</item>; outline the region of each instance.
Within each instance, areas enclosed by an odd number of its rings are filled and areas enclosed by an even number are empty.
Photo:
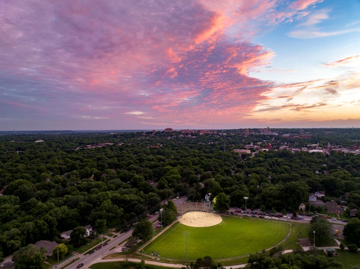
[[[313,231],[315,231],[315,244],[323,245],[331,242],[333,236],[331,223],[320,217],[313,217],[311,220],[309,237],[312,238],[314,236]]]

